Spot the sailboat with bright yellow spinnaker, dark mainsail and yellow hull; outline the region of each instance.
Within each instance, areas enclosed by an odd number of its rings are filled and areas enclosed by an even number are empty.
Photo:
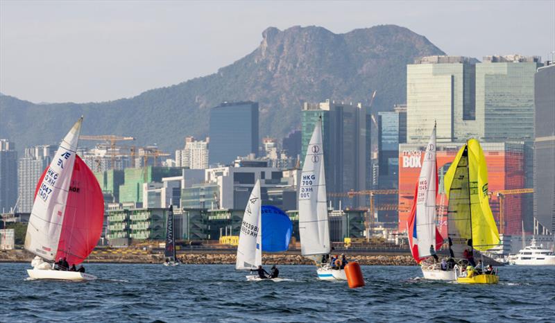
[[[488,202],[488,169],[484,151],[476,139],[470,139],[457,153],[445,173],[448,237],[450,252],[462,259],[465,251],[486,251],[499,245],[499,232]],[[497,274],[462,277],[463,268],[455,270],[459,283],[497,283]]]

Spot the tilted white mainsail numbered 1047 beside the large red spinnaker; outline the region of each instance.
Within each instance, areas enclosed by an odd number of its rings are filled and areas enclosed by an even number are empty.
[[[81,117],[66,134],[40,183],[27,227],[25,249],[46,260],[55,260],[67,194],[74,169]]]

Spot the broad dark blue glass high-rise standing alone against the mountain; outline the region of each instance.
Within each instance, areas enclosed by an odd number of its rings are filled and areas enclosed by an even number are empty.
[[[210,165],[258,153],[258,103],[222,103],[210,110]]]

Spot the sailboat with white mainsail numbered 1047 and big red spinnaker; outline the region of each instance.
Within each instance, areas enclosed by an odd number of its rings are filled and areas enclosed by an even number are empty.
[[[92,274],[55,270],[54,261],[79,265],[98,243],[104,220],[99,182],[76,154],[83,116],[69,130],[35,189],[25,249],[35,254],[31,279],[83,281]]]

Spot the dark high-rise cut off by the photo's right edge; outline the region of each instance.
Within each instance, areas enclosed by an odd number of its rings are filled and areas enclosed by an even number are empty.
[[[540,67],[535,82],[534,215],[555,233],[555,65]]]

